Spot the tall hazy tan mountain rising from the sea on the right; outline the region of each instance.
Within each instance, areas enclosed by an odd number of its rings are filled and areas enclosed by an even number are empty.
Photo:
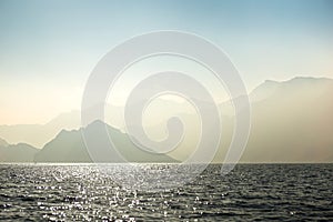
[[[333,80],[265,81],[253,92],[243,162],[333,162]],[[231,129],[232,121],[226,130]],[[224,153],[230,139],[223,141]],[[220,151],[215,161],[224,153]]]

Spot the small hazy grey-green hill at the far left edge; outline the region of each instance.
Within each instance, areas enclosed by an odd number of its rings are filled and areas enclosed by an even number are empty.
[[[0,145],[0,162],[33,162],[38,151],[24,143]]]

